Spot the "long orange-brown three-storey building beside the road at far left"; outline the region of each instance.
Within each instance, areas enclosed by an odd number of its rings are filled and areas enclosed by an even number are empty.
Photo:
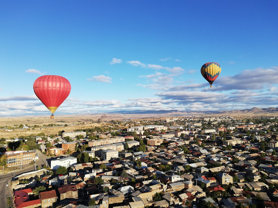
[[[35,151],[26,151],[7,155],[7,167],[28,164],[35,160]]]

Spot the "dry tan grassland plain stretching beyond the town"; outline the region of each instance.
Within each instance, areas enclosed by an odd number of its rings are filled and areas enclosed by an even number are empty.
[[[237,114],[72,114],[72,115],[55,115],[54,119],[51,119],[48,115],[41,115],[41,116],[19,116],[19,117],[0,117],[0,126],[14,126],[14,125],[39,125],[43,126],[48,124],[60,124],[64,125],[67,124],[68,127],[55,127],[55,128],[41,128],[41,129],[34,129],[34,130],[13,130],[13,131],[5,131],[0,130],[0,137],[18,137],[20,135],[30,135],[30,134],[38,134],[41,132],[44,132],[45,134],[57,134],[58,131],[73,131],[74,129],[85,129],[90,127],[96,127],[96,126],[103,126],[108,125],[105,121],[110,120],[165,120],[167,117],[186,117],[186,116],[231,116],[234,117],[234,119],[242,119],[242,118],[255,118],[255,117],[262,117],[262,116],[278,116],[277,113],[237,113]],[[98,120],[101,121],[101,123],[95,123]]]

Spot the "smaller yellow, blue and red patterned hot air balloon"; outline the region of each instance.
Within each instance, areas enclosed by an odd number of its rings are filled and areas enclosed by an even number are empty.
[[[221,73],[221,66],[215,62],[205,63],[201,67],[201,74],[203,77],[210,83],[210,87],[212,88],[212,83],[217,79],[219,74]]]

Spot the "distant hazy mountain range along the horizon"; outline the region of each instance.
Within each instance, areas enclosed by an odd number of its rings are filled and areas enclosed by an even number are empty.
[[[278,113],[278,108],[251,108],[244,110],[223,110],[223,111],[179,111],[179,110],[131,110],[131,111],[115,111],[111,114],[168,114],[168,115],[200,115],[200,114],[267,114]]]

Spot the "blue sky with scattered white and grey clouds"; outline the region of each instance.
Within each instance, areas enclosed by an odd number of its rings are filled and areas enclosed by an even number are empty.
[[[278,1],[2,1],[0,116],[278,107]],[[204,63],[222,67],[210,88]]]

